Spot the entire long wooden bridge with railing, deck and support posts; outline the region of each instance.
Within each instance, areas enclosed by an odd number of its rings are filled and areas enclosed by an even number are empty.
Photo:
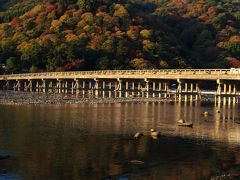
[[[0,75],[0,89],[178,101],[201,100],[211,90],[218,102],[238,103],[239,80],[240,69],[234,68],[47,72]]]

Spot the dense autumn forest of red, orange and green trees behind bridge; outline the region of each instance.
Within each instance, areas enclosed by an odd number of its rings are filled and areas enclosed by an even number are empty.
[[[240,67],[238,0],[0,0],[0,71]]]

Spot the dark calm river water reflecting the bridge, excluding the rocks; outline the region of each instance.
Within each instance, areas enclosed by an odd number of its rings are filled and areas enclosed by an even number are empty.
[[[240,170],[240,110],[216,109],[178,103],[0,105],[0,178],[233,177]],[[180,118],[194,127],[176,126]],[[150,128],[164,136],[152,139]],[[134,140],[138,131],[145,136]]]

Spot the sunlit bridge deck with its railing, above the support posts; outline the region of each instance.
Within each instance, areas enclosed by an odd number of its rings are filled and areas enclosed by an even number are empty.
[[[192,79],[240,80],[238,69],[166,69],[166,70],[107,70],[77,72],[47,72],[0,75],[0,80],[34,79]]]

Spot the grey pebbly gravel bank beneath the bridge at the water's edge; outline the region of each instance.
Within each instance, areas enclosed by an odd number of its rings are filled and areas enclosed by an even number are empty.
[[[204,97],[202,102],[213,103],[214,99]],[[13,92],[0,91],[0,104],[5,105],[28,105],[28,104],[113,104],[113,103],[163,103],[177,102],[174,98],[159,97],[94,97],[92,95],[84,97],[82,95],[56,94],[41,92]],[[193,101],[194,102],[194,101]]]

